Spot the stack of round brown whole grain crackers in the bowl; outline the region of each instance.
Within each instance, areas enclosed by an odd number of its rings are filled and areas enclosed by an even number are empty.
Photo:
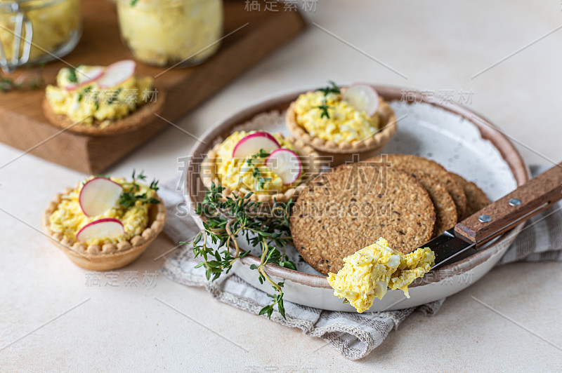
[[[379,237],[412,252],[488,203],[476,184],[434,161],[388,154],[311,180],[293,207],[291,233],[308,264],[335,273]]]

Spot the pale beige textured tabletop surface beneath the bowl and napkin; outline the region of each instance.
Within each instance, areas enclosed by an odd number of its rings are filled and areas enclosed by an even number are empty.
[[[482,69],[559,27],[559,1],[346,1],[344,6],[326,0],[309,15],[408,79],[311,26],[300,39],[178,124],[200,134],[218,119],[264,96],[323,84],[327,79],[453,89],[457,96],[463,89],[473,90],[469,107],[524,144],[518,147],[527,161],[546,163],[542,156],[562,159],[558,124],[562,30],[471,80]],[[170,128],[110,172],[129,175],[133,167],[144,168],[150,176],[171,179],[178,174],[178,157],[187,156],[194,142]],[[19,154],[0,145],[0,164]],[[146,287],[143,272],[159,269],[162,259],[155,262],[155,257],[175,245],[166,238],[159,238],[137,262],[119,271],[119,286],[86,286],[87,272],[25,224],[39,229],[48,201],[84,176],[33,156],[22,156],[0,168],[0,208],[5,210],[0,210],[0,348],[15,341],[0,351],[2,370],[378,371],[419,367],[419,362],[437,371],[562,367],[562,351],[537,337],[562,346],[559,263],[494,269],[447,299],[436,316],[414,314],[405,320],[384,344],[356,362],[345,360],[328,346],[314,352],[325,346],[322,340],[221,304],[205,290],[160,277],[155,287]],[[124,285],[124,271],[139,271],[138,287]],[[86,299],[90,300],[60,316]]]

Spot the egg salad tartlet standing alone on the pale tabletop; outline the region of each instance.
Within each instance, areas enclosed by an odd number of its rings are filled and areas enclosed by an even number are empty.
[[[142,184],[92,176],[57,194],[44,213],[44,231],[72,261],[86,269],[109,270],[133,262],[162,231],[166,208],[157,182]]]

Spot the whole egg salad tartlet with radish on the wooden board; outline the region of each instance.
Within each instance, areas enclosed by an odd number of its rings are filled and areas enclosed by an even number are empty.
[[[136,76],[135,69],[132,60],[60,69],[56,85],[46,87],[46,118],[88,135],[115,135],[142,126],[161,109],[164,94],[149,76]]]

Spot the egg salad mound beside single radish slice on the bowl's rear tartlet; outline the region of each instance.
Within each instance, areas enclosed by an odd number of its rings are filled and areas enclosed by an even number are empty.
[[[309,135],[338,144],[365,140],[380,126],[378,113],[367,116],[341,100],[339,93],[304,93],[295,101],[294,111],[296,123]]]

